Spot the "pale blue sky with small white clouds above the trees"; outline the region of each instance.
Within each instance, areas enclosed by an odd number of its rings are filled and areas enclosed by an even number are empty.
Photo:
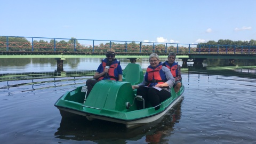
[[[197,44],[256,40],[255,0],[1,0],[0,35]]]

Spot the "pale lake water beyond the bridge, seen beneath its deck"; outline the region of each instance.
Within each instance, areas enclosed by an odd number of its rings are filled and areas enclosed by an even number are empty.
[[[63,70],[97,70],[102,58],[69,58],[63,61]],[[125,58],[119,59],[121,66],[130,63],[130,60]],[[166,59],[162,59],[165,61]],[[182,66],[182,60],[177,60],[179,65]],[[147,58],[137,60],[142,69],[146,69],[149,65]],[[43,72],[54,71],[57,69],[57,60],[53,58],[20,58],[20,59],[1,59],[0,61],[0,74],[4,73],[23,73],[23,72]]]

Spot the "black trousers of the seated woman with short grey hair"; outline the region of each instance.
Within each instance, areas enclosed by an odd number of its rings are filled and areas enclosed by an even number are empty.
[[[171,97],[171,93],[169,91],[163,89],[158,91],[153,87],[145,87],[142,85],[138,88],[137,95],[141,95],[145,102],[149,101],[153,107],[159,105],[161,102]],[[143,103],[139,102],[139,108],[142,109],[142,107]],[[158,106],[155,109],[157,110],[159,108],[160,107]]]

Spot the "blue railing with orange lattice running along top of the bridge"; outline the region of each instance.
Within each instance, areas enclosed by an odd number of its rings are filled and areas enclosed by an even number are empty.
[[[83,52],[97,53],[114,49],[117,53],[214,53],[255,54],[256,45],[205,45],[156,43],[135,41],[108,41],[77,38],[48,38],[0,36],[0,51],[5,52]]]

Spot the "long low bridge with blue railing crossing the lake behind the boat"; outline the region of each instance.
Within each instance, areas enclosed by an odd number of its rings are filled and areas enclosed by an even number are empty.
[[[256,59],[256,45],[204,45],[97,39],[0,36],[1,58],[102,58],[114,49],[116,58],[148,58],[153,52],[166,58],[175,52],[186,65],[188,60],[201,64],[205,59]]]

